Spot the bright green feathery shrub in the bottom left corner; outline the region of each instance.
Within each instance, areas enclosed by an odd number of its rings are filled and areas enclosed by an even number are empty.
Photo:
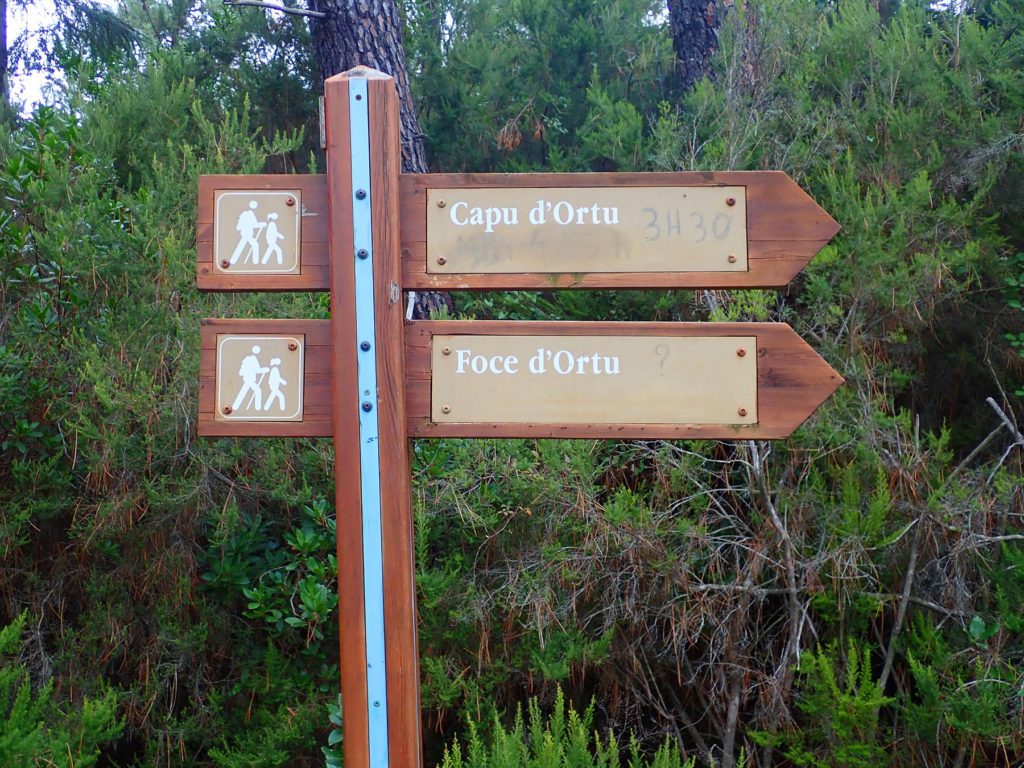
[[[33,685],[17,662],[28,614],[0,629],[0,763],[5,768],[90,768],[124,728],[117,696],[83,697],[70,712],[53,700],[53,680]]]

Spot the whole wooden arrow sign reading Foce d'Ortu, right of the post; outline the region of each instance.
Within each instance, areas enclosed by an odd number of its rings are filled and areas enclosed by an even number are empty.
[[[419,437],[771,439],[843,383],[785,324],[407,327]]]

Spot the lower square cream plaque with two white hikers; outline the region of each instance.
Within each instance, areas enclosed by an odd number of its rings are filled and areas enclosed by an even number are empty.
[[[217,421],[302,421],[305,337],[217,334]]]

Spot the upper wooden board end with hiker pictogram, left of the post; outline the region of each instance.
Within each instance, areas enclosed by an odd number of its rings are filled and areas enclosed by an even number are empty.
[[[326,291],[325,176],[200,176],[203,291]]]

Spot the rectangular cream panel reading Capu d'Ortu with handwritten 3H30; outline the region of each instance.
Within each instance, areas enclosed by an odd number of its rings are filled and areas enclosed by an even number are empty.
[[[733,272],[742,186],[429,189],[427,271]]]

